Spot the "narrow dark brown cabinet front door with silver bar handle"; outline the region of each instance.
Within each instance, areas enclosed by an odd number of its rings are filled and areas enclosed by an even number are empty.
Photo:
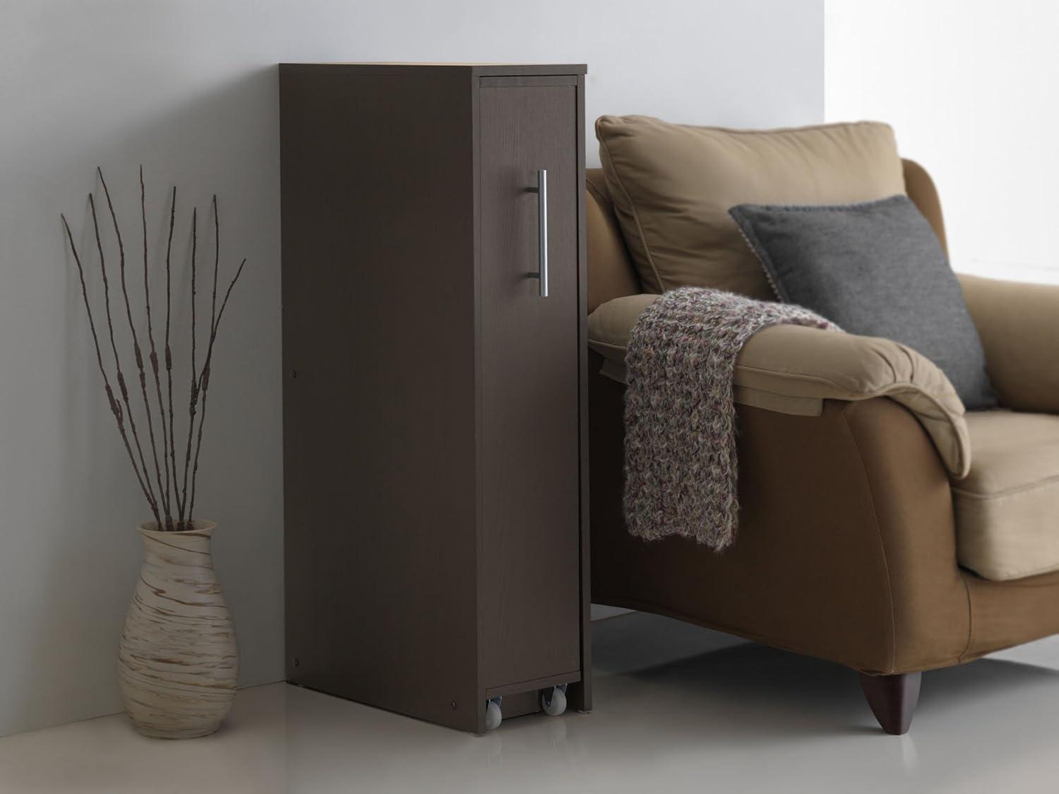
[[[482,87],[483,684],[580,667],[576,86]],[[549,294],[538,170],[548,173]]]

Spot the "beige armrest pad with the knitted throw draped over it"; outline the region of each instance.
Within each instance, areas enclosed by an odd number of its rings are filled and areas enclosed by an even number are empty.
[[[604,374],[624,381],[629,332],[657,297],[617,297],[589,315],[589,345],[607,359]],[[802,416],[819,416],[825,399],[889,397],[915,415],[952,476],[970,469],[964,405],[949,379],[923,356],[887,339],[800,325],[764,328],[739,354],[734,396],[737,403]]]

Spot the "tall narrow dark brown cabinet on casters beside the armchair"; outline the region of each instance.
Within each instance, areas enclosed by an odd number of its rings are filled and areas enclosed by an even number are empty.
[[[280,67],[291,682],[590,707],[584,74]]]

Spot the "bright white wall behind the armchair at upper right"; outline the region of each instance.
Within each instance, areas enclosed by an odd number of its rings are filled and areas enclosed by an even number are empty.
[[[827,0],[828,121],[890,122],[941,195],[956,270],[1059,283],[1059,5]]]

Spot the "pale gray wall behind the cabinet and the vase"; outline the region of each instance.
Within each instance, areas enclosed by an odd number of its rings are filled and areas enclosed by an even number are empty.
[[[225,263],[249,257],[216,354],[199,504],[220,523],[250,685],[283,674],[277,61],[587,61],[590,121],[823,114],[822,0],[4,0],[0,14],[0,734],[120,708],[114,648],[147,510],[58,222],[90,248],[96,164],[131,248],[143,163],[152,233],[175,181],[183,207],[219,194]]]

